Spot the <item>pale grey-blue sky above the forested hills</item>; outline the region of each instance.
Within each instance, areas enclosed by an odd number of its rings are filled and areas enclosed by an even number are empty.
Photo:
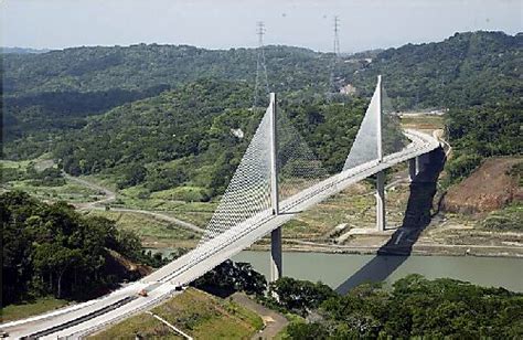
[[[0,0],[0,45],[64,49],[137,43],[206,49],[265,44],[351,53],[441,41],[455,32],[522,31],[522,0]]]

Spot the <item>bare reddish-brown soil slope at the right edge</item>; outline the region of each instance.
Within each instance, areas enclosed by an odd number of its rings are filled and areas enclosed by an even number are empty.
[[[484,213],[523,200],[523,188],[509,170],[523,158],[490,158],[470,177],[449,189],[442,209],[458,213]]]

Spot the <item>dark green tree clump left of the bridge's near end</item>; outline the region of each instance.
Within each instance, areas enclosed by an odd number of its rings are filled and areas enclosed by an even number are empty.
[[[2,306],[42,296],[97,297],[124,278],[109,267],[114,255],[153,266],[139,237],[104,217],[86,217],[72,205],[40,202],[23,192],[0,195],[2,214]],[[129,276],[130,275],[130,276]]]

